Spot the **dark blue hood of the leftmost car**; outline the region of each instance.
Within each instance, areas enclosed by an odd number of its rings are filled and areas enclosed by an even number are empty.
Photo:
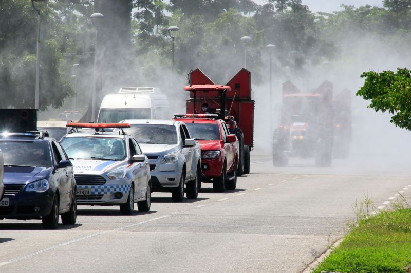
[[[4,184],[28,184],[30,182],[48,179],[53,168],[45,167],[4,167]]]

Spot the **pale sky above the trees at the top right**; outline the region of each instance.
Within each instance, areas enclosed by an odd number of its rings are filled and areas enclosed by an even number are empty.
[[[254,0],[258,4],[265,4],[267,0]],[[303,0],[312,12],[333,12],[342,10],[341,4],[359,6],[371,5],[382,7],[382,0]]]

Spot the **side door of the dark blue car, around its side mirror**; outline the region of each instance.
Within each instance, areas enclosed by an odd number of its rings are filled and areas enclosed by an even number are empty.
[[[55,158],[55,167],[54,167],[54,175],[57,175],[56,181],[59,181],[58,188],[60,191],[60,210],[69,207],[70,205],[70,192],[71,192],[71,185],[68,182],[68,172],[66,168],[59,168],[59,162],[65,159],[65,154],[59,151],[59,143],[56,141],[51,141],[51,148],[53,150],[54,158]]]

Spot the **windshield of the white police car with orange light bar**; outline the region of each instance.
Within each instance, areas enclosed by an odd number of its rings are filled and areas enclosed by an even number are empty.
[[[123,160],[124,139],[113,137],[65,137],[60,141],[68,157],[82,159]]]

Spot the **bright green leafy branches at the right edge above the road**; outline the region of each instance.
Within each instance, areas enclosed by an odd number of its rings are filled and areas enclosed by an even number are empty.
[[[364,72],[364,85],[357,92],[371,100],[369,108],[376,112],[389,112],[391,123],[411,131],[411,71],[398,68],[397,72]]]

